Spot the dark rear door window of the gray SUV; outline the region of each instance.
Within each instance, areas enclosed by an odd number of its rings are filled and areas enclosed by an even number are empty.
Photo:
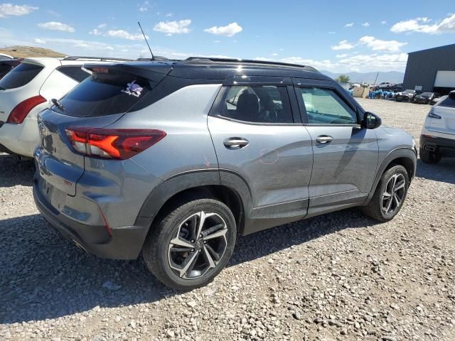
[[[231,87],[221,116],[255,123],[293,123],[286,87]]]

